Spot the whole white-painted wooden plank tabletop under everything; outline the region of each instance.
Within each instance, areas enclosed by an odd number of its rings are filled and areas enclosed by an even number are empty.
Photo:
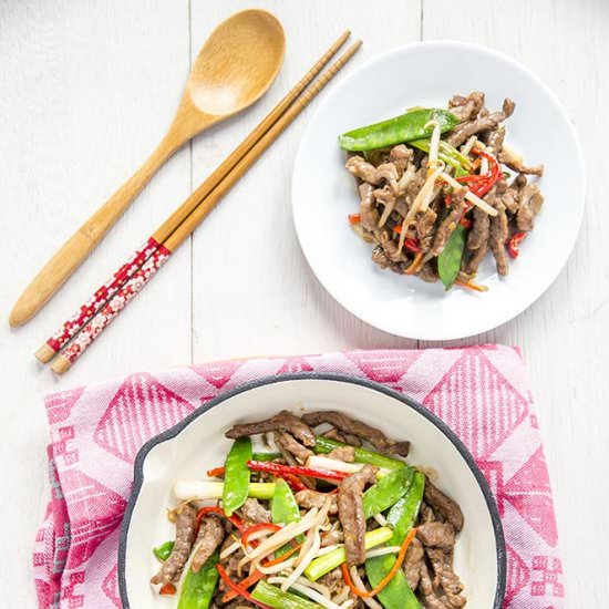
[[[0,1],[4,320],[49,255],[157,143],[213,27],[250,6],[246,0]],[[519,318],[460,343],[523,348],[554,483],[570,606],[607,607],[609,2],[259,0],[257,6],[279,17],[288,41],[285,65],[268,95],[179,152],[33,321],[17,331],[6,321],[0,327],[2,606],[34,606],[31,547],[49,494],[44,393],[217,358],[416,347],[341,309],[304,262],[290,213],[290,175],[312,107],[66,376],[53,376],[33,359],[49,331],[350,28],[364,39],[353,65],[392,47],[435,38],[508,53],[547,82],[578,127],[588,205],[567,268]]]

